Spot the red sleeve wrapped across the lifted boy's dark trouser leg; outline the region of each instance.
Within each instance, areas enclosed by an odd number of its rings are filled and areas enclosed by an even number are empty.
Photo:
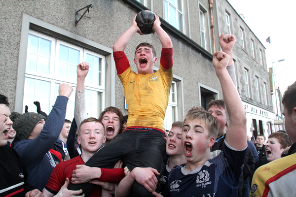
[[[125,176],[123,168],[101,168],[102,175],[100,181],[119,183]]]

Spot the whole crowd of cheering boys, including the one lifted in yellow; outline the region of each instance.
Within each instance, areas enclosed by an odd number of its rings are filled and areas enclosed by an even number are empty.
[[[259,134],[254,145],[247,139],[246,112],[234,80],[235,38],[222,33],[213,66],[224,99],[212,100],[208,111],[192,107],[183,122],[165,131],[173,44],[155,18],[153,33],[162,44],[157,72],[151,44],[136,47],[138,74],[123,52],[134,34],[142,34],[135,18],[113,45],[128,116],[111,106],[98,118],[88,117],[87,62],[77,65],[73,121],[65,120],[73,92],[69,84],[59,86],[48,115],[37,101],[37,113],[28,107],[26,113],[10,113],[7,97],[0,95],[0,196],[296,196],[296,82],[282,99],[287,132],[272,133],[265,145]]]

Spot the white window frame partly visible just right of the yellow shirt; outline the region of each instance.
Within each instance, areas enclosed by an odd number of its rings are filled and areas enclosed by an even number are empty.
[[[172,91],[172,87],[175,87],[174,90],[174,94],[173,94],[173,91]],[[171,130],[171,127],[172,127],[172,124],[175,122],[175,121],[178,121],[178,93],[177,93],[177,82],[176,81],[173,81],[172,82],[172,86],[171,86],[171,91],[170,91],[170,97],[169,97],[169,102],[168,102],[168,107],[174,107],[176,110],[174,111],[175,114],[174,114],[174,117],[175,117],[175,120],[172,120],[172,119],[169,119],[169,118],[172,118],[173,117],[173,114],[168,114],[168,110],[166,110],[166,113],[165,113],[165,117],[164,117],[164,128],[166,130]],[[173,98],[174,97],[174,100],[173,101]],[[168,108],[167,107],[167,108]]]

